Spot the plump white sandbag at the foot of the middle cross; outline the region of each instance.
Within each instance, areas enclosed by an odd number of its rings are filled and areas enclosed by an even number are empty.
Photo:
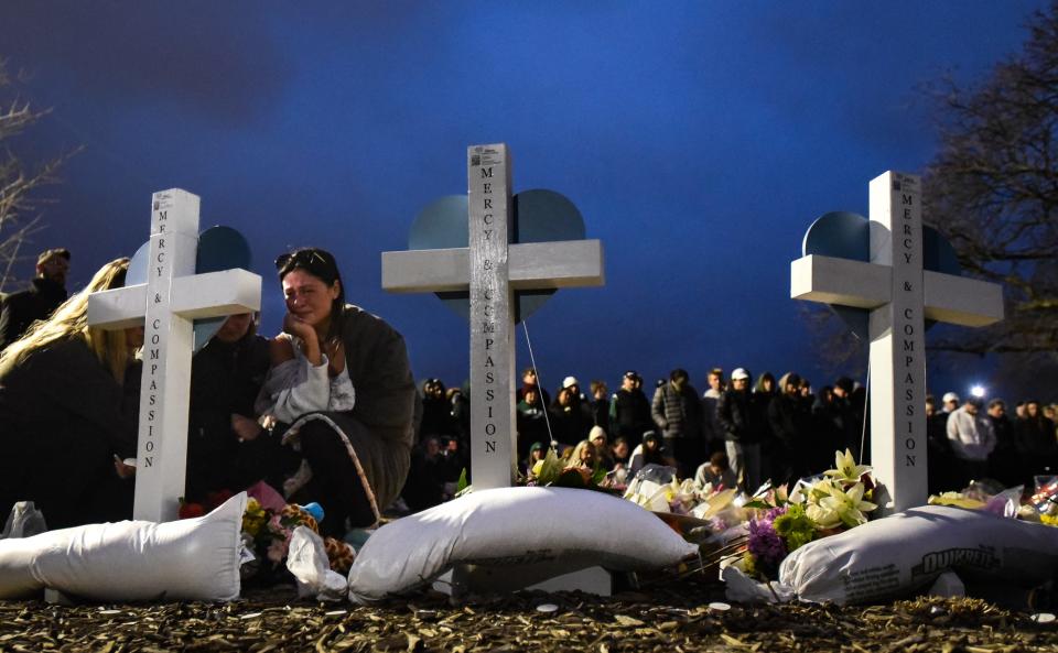
[[[456,564],[532,565],[541,581],[591,566],[663,567],[697,552],[647,510],[602,492],[479,490],[379,529],[349,569],[349,598],[399,595]]]

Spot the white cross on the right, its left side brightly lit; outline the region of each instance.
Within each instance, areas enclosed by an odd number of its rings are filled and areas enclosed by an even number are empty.
[[[871,465],[885,514],[922,505],[926,472],[926,319],[986,326],[1003,319],[1003,289],[922,270],[921,183],[887,172],[871,182],[871,261],[807,255],[790,264],[790,296],[871,311]]]

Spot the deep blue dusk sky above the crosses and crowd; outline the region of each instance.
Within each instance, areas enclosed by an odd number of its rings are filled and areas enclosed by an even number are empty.
[[[325,247],[415,374],[458,383],[465,323],[382,292],[379,253],[465,192],[467,145],[506,142],[515,191],[564,194],[605,248],[604,289],[529,320],[546,385],[684,367],[701,389],[719,364],[819,387],[832,379],[789,298],[805,230],[866,215],[886,170],[920,173],[936,148],[920,87],[981,79],[1043,6],[4,2],[0,55],[54,108],[23,152],[86,146],[33,243],[73,250],[75,286],[145,239],[152,192],[185,188],[204,227],[250,239],[266,333],[283,311],[271,260]]]

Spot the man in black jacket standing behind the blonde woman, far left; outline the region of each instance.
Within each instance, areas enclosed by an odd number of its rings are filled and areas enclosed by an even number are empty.
[[[24,291],[3,298],[0,308],[0,351],[25,334],[37,319],[47,319],[66,301],[69,250],[50,249],[36,259],[36,277]]]

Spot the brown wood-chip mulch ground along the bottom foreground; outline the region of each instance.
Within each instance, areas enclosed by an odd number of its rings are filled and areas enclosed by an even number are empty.
[[[0,601],[0,652],[1058,652],[1054,622],[980,599],[728,610],[712,601],[723,601],[723,586],[687,581],[608,598],[519,592],[453,605],[431,594],[370,608],[299,600],[285,586],[230,603]]]

